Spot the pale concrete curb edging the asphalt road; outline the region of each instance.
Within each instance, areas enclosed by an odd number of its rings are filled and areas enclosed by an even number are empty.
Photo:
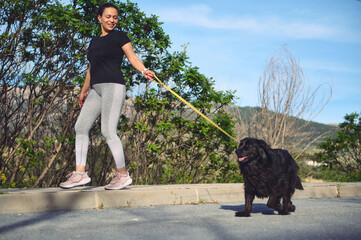
[[[361,197],[361,183],[303,183],[293,199]],[[120,191],[104,187],[2,189],[0,214],[122,208],[173,204],[244,202],[242,183],[133,185]]]

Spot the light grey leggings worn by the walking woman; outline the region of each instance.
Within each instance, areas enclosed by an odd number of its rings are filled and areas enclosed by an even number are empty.
[[[112,152],[117,168],[125,166],[123,145],[117,126],[126,95],[125,85],[98,83],[92,86],[75,124],[76,165],[85,166],[89,146],[89,130],[101,115],[101,131]]]

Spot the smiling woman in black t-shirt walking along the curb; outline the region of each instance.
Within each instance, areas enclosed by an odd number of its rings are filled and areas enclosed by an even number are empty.
[[[116,133],[126,95],[125,81],[120,69],[124,54],[146,79],[152,81],[154,77],[154,72],[146,69],[135,55],[127,35],[114,30],[118,23],[117,7],[110,3],[103,4],[98,10],[97,18],[102,34],[94,37],[89,45],[87,57],[90,64],[78,100],[82,109],[75,124],[76,170],[69,174],[66,182],[60,184],[62,188],[72,188],[90,182],[91,179],[85,172],[89,130],[99,115],[102,135],[117,167],[115,177],[105,189],[122,189],[132,183],[125,169],[123,146]],[[91,91],[87,96],[89,88]]]

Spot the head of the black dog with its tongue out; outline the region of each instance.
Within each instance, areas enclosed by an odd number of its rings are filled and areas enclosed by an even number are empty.
[[[271,148],[268,144],[260,139],[245,138],[239,143],[236,150],[238,161],[240,164],[246,164],[250,161],[268,162]]]

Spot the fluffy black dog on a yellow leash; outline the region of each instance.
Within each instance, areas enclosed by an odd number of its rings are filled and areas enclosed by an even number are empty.
[[[279,214],[295,211],[291,197],[295,189],[303,190],[303,187],[297,176],[299,168],[288,151],[271,149],[263,140],[245,138],[236,154],[243,174],[246,202],[243,211],[236,212],[237,217],[251,216],[255,196],[269,197],[267,206]]]

